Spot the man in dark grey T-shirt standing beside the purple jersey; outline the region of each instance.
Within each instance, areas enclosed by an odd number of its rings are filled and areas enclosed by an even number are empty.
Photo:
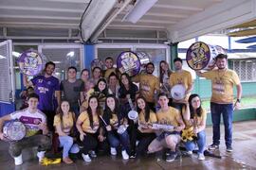
[[[83,90],[84,83],[82,79],[77,79],[77,68],[68,67],[67,79],[61,82],[61,92],[64,92],[64,99],[69,102],[70,109],[75,112],[76,117],[78,117],[80,113],[79,103],[83,100]]]

